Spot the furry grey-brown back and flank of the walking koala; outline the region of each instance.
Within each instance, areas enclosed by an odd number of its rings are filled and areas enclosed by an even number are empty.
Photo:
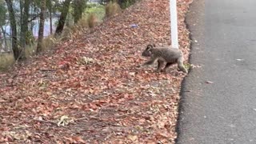
[[[182,57],[182,52],[172,47],[158,47],[153,51],[154,56],[166,62],[177,62],[178,58]]]

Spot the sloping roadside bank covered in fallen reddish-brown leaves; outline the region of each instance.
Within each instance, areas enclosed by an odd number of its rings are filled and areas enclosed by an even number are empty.
[[[191,1],[178,0],[186,62],[184,19]],[[0,73],[0,142],[174,143],[185,74],[177,66],[166,74],[138,67],[148,43],[170,45],[169,12],[169,1],[142,0]]]

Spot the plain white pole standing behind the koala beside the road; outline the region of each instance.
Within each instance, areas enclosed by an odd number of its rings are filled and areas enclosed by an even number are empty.
[[[177,18],[177,2],[170,0],[170,35],[171,45],[178,49],[178,18]]]

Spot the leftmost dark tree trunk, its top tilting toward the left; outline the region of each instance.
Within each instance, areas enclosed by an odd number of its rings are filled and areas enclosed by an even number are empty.
[[[18,60],[20,57],[21,51],[18,49],[18,38],[17,38],[17,27],[16,27],[16,20],[13,8],[13,1],[12,0],[5,0],[9,12],[10,18],[10,28],[11,28],[11,42],[12,42],[12,49],[14,52],[14,58]]]

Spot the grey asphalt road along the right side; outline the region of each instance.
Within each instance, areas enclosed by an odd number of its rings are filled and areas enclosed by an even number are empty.
[[[178,144],[256,143],[256,0],[194,0]]]

